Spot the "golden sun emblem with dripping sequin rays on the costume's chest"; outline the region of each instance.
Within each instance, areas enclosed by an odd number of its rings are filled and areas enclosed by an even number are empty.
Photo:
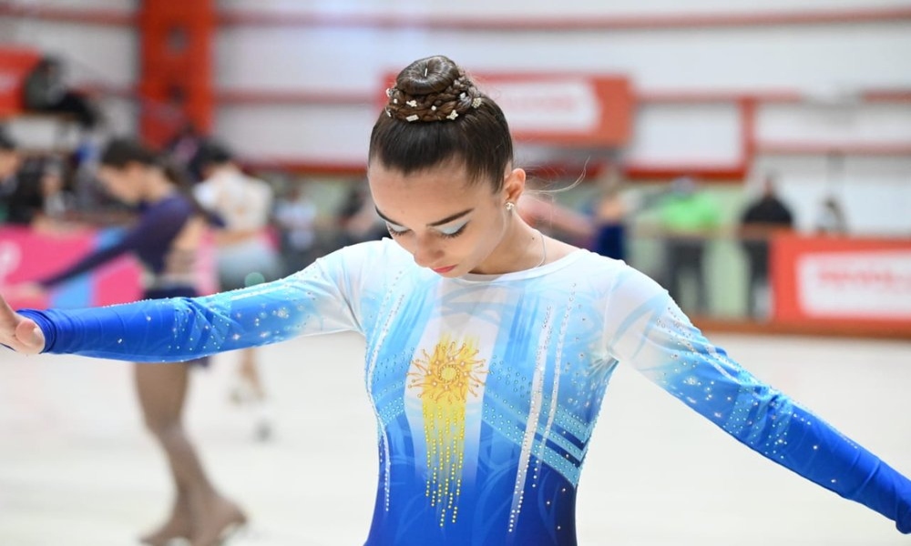
[[[465,457],[465,415],[469,396],[477,398],[486,376],[477,359],[477,342],[458,343],[447,336],[433,353],[421,350],[408,373],[408,389],[419,389],[427,445],[427,487],[430,505],[440,514],[440,527],[455,523],[462,489]]]

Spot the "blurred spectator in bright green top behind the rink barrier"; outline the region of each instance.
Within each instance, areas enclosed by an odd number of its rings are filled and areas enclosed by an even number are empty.
[[[667,283],[670,297],[681,308],[695,313],[708,311],[708,289],[705,284],[703,258],[706,238],[721,224],[721,209],[691,177],[679,177],[671,183],[670,192],[660,201],[660,222],[665,234]],[[691,277],[696,300],[685,305],[683,282]]]

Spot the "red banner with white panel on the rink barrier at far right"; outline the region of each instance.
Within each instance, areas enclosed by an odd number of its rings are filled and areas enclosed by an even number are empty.
[[[776,320],[911,335],[911,240],[783,234],[772,260]]]

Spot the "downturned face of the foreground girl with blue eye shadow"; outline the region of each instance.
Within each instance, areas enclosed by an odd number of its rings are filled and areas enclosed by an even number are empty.
[[[507,172],[499,191],[471,181],[456,162],[403,175],[375,161],[367,177],[389,234],[417,265],[444,277],[512,270],[505,241],[517,217],[507,202],[521,195],[521,169]]]

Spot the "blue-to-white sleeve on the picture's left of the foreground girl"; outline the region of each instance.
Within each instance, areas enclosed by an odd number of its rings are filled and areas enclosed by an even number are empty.
[[[26,309],[45,334],[44,352],[137,362],[199,359],[299,335],[360,330],[339,257],[289,278],[202,298],[85,309]]]

